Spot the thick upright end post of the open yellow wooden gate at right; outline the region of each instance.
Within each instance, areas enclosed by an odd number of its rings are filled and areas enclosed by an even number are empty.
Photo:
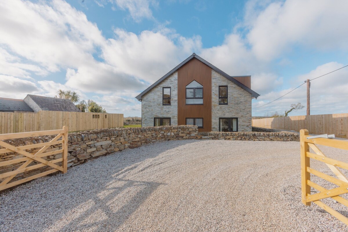
[[[310,180],[310,173],[307,171],[307,167],[310,167],[309,157],[306,152],[309,152],[309,146],[304,139],[308,136],[308,130],[300,130],[300,144],[301,144],[301,195],[302,203],[306,206],[310,206],[311,202],[306,202],[306,197],[310,194],[310,186],[307,184],[307,180]]]

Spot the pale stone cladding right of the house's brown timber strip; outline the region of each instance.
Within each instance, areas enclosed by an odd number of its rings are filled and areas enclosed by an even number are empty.
[[[219,86],[228,86],[228,105],[219,105]],[[251,94],[212,70],[212,131],[219,118],[238,118],[238,131],[251,131]]]

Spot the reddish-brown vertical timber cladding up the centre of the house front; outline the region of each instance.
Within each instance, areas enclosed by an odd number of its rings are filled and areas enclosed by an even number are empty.
[[[185,87],[193,80],[203,85],[203,105],[186,105]],[[186,118],[203,118],[198,131],[212,131],[212,69],[193,58],[178,70],[177,86],[177,125],[185,125]]]

